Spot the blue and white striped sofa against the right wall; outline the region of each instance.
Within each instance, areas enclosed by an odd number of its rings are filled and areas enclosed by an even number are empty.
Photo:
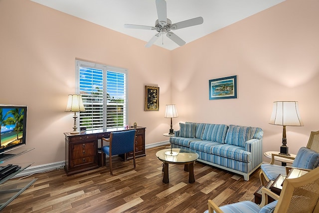
[[[262,163],[263,130],[225,124],[185,122],[169,138],[172,148],[198,153],[198,161],[244,176]]]

